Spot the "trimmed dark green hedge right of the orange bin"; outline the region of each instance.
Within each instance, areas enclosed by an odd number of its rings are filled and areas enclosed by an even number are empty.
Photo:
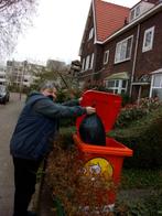
[[[114,130],[109,136],[133,150],[126,158],[126,168],[162,168],[162,108],[134,121],[129,128]]]

